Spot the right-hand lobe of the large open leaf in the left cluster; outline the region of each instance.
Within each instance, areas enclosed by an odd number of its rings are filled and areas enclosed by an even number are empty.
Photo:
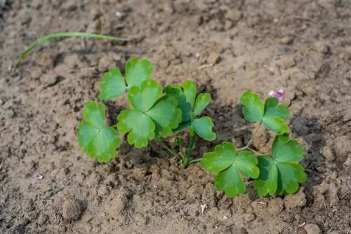
[[[182,121],[182,111],[177,108],[178,102],[175,97],[166,96],[147,111],[147,116],[152,118],[156,126],[156,136],[168,137],[172,129],[178,128]]]

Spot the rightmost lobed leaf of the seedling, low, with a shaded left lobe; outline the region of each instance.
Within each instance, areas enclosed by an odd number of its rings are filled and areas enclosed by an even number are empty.
[[[258,156],[260,176],[253,186],[258,195],[296,193],[299,184],[306,181],[303,166],[303,149],[288,134],[277,135],[272,144],[272,157]]]

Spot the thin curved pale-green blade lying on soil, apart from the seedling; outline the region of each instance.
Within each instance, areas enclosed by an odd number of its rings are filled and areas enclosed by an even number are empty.
[[[110,40],[110,41],[128,41],[128,39],[122,39],[122,38],[118,38],[115,36],[91,34],[88,32],[56,32],[53,34],[41,36],[39,39],[37,39],[37,41],[34,41],[34,43],[32,43],[27,48],[25,48],[25,50],[23,50],[22,53],[20,53],[20,55],[18,56],[18,59],[15,61],[15,68],[18,67],[18,64],[20,64],[20,62],[25,59],[25,56],[27,54],[29,54],[34,48],[37,48],[45,41],[55,39],[58,37],[85,37],[88,39],[105,39],[105,40]]]

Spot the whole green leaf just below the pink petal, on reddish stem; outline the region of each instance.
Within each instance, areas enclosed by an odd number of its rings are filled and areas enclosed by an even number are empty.
[[[279,104],[279,100],[270,97],[263,104],[262,99],[256,93],[244,92],[241,104],[244,106],[243,113],[247,121],[253,123],[262,121],[266,128],[282,134],[289,132],[289,126],[284,118],[290,118],[289,109]]]

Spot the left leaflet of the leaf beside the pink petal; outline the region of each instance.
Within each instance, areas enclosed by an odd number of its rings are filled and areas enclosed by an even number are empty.
[[[246,91],[240,99],[241,104],[244,106],[244,117],[250,123],[262,121],[264,113],[264,104],[262,99],[253,92]]]

